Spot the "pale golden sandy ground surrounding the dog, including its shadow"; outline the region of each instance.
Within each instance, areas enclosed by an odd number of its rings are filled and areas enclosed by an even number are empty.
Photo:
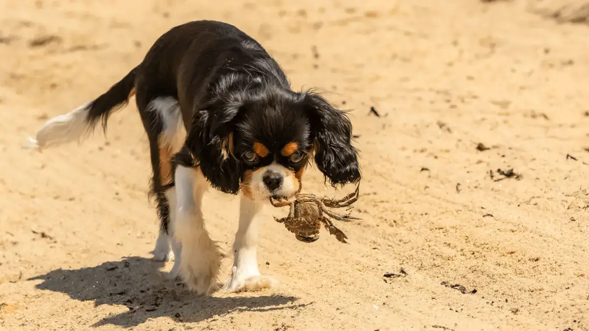
[[[589,329],[589,28],[528,9],[0,1],[0,329]],[[204,18],[259,39],[294,87],[353,110],[363,220],[342,224],[347,246],[326,233],[303,244],[264,211],[259,259],[281,282],[273,290],[203,298],[163,279],[171,263],[150,256],[157,220],[134,105],[82,147],[20,147],[168,28]],[[335,194],[316,170],[305,184]],[[238,204],[205,197],[207,227],[229,251]]]

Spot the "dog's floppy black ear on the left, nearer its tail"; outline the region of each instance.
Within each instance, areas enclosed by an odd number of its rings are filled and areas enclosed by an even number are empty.
[[[234,119],[239,105],[211,104],[198,111],[186,137],[186,147],[211,186],[239,192],[240,163],[233,156]]]

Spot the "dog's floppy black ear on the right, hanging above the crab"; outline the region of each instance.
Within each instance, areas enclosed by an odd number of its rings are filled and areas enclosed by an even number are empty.
[[[305,106],[315,137],[315,163],[332,186],[360,180],[358,150],[352,145],[352,123],[319,94],[307,92]]]

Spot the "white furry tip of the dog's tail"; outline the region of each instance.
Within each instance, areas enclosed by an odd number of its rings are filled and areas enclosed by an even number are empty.
[[[90,103],[81,105],[67,114],[51,118],[41,127],[35,138],[28,138],[28,143],[24,147],[41,150],[72,141],[81,143],[90,134],[90,127],[86,122],[89,105]]]

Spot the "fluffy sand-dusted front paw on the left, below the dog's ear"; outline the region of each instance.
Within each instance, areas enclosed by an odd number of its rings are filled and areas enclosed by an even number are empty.
[[[182,247],[179,274],[188,290],[208,295],[217,283],[223,254],[209,237],[201,237],[201,240],[209,240],[210,243]],[[170,273],[173,271],[174,268]]]

